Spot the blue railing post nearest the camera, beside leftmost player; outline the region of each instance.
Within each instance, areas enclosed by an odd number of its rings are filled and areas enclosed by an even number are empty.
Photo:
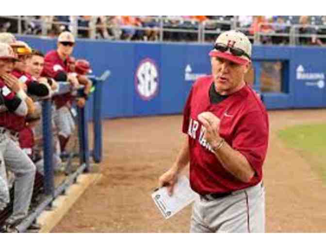
[[[54,195],[52,108],[50,99],[42,102],[44,190],[46,195]]]

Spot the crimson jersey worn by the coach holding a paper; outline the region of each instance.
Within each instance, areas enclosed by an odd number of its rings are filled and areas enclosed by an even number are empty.
[[[262,179],[262,164],[268,146],[269,124],[265,107],[248,86],[222,102],[211,104],[212,76],[198,79],[186,102],[182,132],[188,134],[190,147],[190,184],[198,194],[226,193],[256,185]],[[198,114],[210,111],[220,119],[220,136],[248,160],[255,176],[248,183],[231,175],[204,139],[204,126]]]

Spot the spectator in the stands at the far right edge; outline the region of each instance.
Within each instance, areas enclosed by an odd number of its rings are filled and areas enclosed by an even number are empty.
[[[301,27],[298,32],[300,35],[310,35],[309,37],[300,36],[299,44],[300,45],[308,45],[308,46],[323,46],[323,42],[316,37],[317,29],[315,27],[310,26],[310,17],[309,16],[301,16],[299,19],[299,24]]]

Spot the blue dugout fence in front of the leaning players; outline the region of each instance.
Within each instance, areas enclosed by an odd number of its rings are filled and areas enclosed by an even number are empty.
[[[102,160],[102,126],[101,126],[101,102],[102,102],[102,83],[103,78],[90,76],[93,81],[93,92],[83,108],[76,107],[77,115],[75,119],[75,133],[72,135],[74,144],[68,147],[66,154],[61,154],[63,159],[62,166],[56,168],[53,164],[53,138],[56,130],[53,129],[52,118],[52,98],[55,95],[65,94],[70,91],[70,85],[67,82],[59,82],[59,89],[50,99],[42,99],[42,144],[44,175],[36,173],[33,198],[28,216],[16,227],[19,232],[25,232],[36,220],[36,218],[45,210],[51,209],[52,202],[59,195],[64,195],[66,190],[77,181],[77,177],[82,173],[89,173],[93,163],[99,163]],[[77,95],[81,94],[83,88],[77,90]],[[88,105],[92,105],[91,108]],[[89,127],[88,114],[91,109],[92,129]],[[92,137],[92,141],[91,138]],[[93,144],[90,147],[90,144]],[[10,190],[11,201],[8,206],[0,212],[0,227],[10,216],[13,210],[14,186]]]

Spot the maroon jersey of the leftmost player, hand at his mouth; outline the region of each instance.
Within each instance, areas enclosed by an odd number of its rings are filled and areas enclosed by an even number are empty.
[[[2,96],[6,100],[11,100],[15,97],[15,92],[9,89],[0,78],[0,89],[2,90]],[[0,126],[6,127],[13,131],[21,130],[25,125],[25,117],[18,116],[9,111],[0,113]]]

